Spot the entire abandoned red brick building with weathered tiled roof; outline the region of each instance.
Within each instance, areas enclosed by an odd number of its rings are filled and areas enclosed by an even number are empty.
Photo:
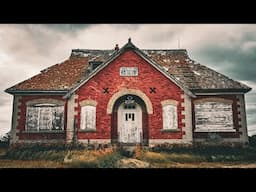
[[[131,39],[120,49],[74,49],[6,90],[11,142],[244,144],[250,90],[184,49],[143,50]]]

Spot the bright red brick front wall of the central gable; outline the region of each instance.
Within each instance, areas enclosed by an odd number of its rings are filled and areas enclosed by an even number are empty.
[[[136,77],[120,77],[120,67],[138,67],[139,75]],[[150,87],[156,88],[156,93],[150,93]],[[109,93],[103,93],[103,88],[108,88]],[[183,91],[172,83],[163,74],[148,64],[140,56],[132,51],[127,51],[90,79],[76,93],[79,95],[77,102],[92,99],[97,101],[96,106],[96,127],[95,133],[78,132],[79,139],[110,139],[111,138],[111,115],[107,114],[107,104],[109,99],[121,88],[138,89],[144,92],[153,106],[153,114],[148,115],[149,139],[181,139],[182,138],[182,118],[183,108],[181,99]],[[161,132],[162,105],[161,101],[174,99],[178,101],[178,128],[180,132]],[[80,128],[80,107],[76,109],[78,115],[78,129]]]

